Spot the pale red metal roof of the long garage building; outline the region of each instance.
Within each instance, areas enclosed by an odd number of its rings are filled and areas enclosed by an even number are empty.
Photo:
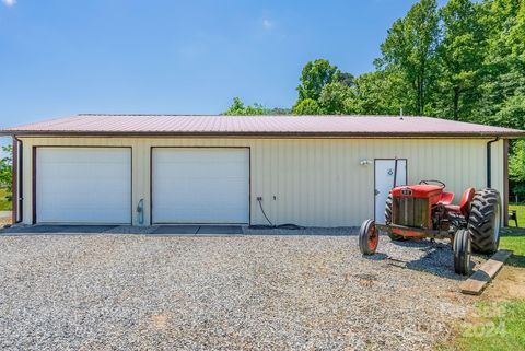
[[[83,114],[0,130],[1,134],[525,137],[525,131],[431,117],[196,116]]]

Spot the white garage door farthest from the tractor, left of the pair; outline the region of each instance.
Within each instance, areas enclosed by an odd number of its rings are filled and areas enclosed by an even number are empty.
[[[131,149],[37,148],[38,223],[131,223]]]

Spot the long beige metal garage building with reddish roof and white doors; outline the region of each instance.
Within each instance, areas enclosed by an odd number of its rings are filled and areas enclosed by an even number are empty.
[[[508,140],[525,132],[429,117],[77,115],[1,134],[16,222],[265,224],[262,207],[277,224],[355,226],[384,215],[394,178],[506,200]]]

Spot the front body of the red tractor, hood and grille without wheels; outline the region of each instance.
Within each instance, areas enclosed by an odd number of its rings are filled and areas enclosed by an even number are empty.
[[[392,189],[392,224],[435,230],[445,215],[439,204],[443,188],[410,185]]]

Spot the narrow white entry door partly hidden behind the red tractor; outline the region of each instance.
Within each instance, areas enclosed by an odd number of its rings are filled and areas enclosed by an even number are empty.
[[[397,163],[397,166],[396,166]],[[375,160],[375,221],[385,222],[385,202],[392,188],[407,184],[407,160]],[[397,172],[396,172],[397,169]],[[395,185],[394,185],[394,178]]]

